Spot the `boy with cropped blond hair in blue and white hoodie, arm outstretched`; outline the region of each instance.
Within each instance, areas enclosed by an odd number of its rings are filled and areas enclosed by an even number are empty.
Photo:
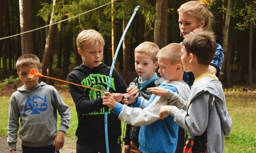
[[[176,48],[178,48],[176,50]],[[174,56],[181,57],[181,45],[171,43],[162,48],[157,54],[160,68],[158,72],[166,81],[161,83],[159,87],[148,88],[151,92],[159,88],[167,91],[171,90],[181,95],[184,100],[188,99],[190,88],[182,81],[183,67],[180,58],[172,58],[165,56],[169,53]],[[177,52],[179,51],[179,52]],[[105,92],[103,96],[103,105],[114,108],[113,112],[118,117],[131,125],[141,126],[139,132],[139,150],[142,152],[161,152],[174,153],[177,145],[178,125],[174,122],[172,116],[168,116],[167,120],[159,120],[159,110],[163,105],[176,105],[179,108],[185,108],[186,104],[178,102],[177,99],[168,99],[167,96],[158,97],[152,95],[147,101],[143,97],[133,98],[133,95],[126,95],[129,103],[133,107],[117,103],[109,92]]]

